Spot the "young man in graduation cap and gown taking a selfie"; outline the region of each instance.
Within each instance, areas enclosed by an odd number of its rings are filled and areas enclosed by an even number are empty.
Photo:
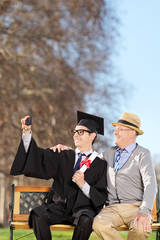
[[[54,179],[47,205],[31,211],[29,226],[38,240],[51,240],[50,225],[70,223],[75,225],[72,239],[87,240],[92,220],[107,197],[106,163],[92,150],[97,134],[103,135],[103,119],[78,112],[78,124],[73,130],[76,150],[58,153],[37,146],[31,125],[26,125],[27,118],[21,120],[22,140],[10,174]],[[79,170],[80,161],[86,171]]]

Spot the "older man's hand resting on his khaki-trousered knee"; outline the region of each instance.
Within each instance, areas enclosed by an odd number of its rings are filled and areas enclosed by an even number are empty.
[[[147,214],[138,213],[133,221],[133,225],[136,223],[138,230],[143,229],[144,232],[147,232],[151,229],[151,220]]]

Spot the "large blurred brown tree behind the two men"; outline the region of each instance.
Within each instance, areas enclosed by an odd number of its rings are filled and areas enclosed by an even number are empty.
[[[111,2],[1,1],[0,169],[6,175],[26,114],[33,115],[33,135],[42,147],[73,146],[76,110],[105,117],[106,109],[105,120],[113,116],[123,88],[109,80],[117,26]]]

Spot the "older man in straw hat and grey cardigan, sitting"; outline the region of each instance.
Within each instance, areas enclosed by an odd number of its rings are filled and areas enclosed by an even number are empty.
[[[156,195],[156,177],[148,149],[138,145],[142,135],[137,115],[125,112],[115,127],[116,146],[101,154],[107,162],[106,206],[94,218],[93,230],[104,240],[122,240],[118,226],[129,226],[128,240],[144,240],[151,233],[152,208]],[[53,150],[63,150],[63,145]]]

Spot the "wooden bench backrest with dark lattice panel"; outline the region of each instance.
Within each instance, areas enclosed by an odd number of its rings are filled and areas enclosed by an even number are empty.
[[[42,205],[51,187],[47,186],[14,186],[12,184],[11,197],[13,204],[13,221],[27,221],[29,212],[36,206]],[[159,191],[152,209],[153,222],[157,222],[159,210]]]

